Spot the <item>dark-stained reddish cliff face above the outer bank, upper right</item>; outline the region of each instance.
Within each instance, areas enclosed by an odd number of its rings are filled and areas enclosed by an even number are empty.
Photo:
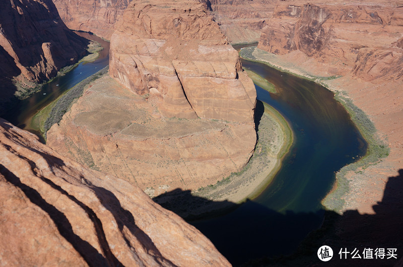
[[[281,1],[258,47],[279,55],[301,51],[337,67],[333,74],[354,69],[359,77],[375,79],[396,73],[401,70],[396,68],[402,59],[397,41],[403,26],[403,7],[396,5],[388,1]]]

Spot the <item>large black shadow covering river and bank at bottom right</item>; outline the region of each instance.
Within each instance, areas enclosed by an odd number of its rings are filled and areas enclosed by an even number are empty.
[[[167,197],[169,201],[164,202]],[[185,217],[234,265],[393,266],[403,256],[403,169],[388,178],[382,201],[373,206],[375,214],[361,215],[356,210],[348,210],[342,215],[324,210],[283,214],[251,200],[243,204],[214,202],[180,189],[154,198],[154,201]],[[196,213],[205,205],[207,210],[219,209],[221,214],[226,214],[214,220],[197,220],[199,217],[192,212]],[[228,213],[223,208],[234,212]],[[217,213],[203,216],[211,218]],[[312,229],[312,222],[321,227]],[[330,261],[322,262],[317,257],[321,245],[333,249]],[[341,248],[349,252],[357,249],[361,259],[352,259],[352,254],[348,254],[347,259],[340,259]],[[373,259],[364,259],[364,248],[373,249]],[[376,248],[385,249],[384,259],[375,259]],[[390,257],[388,248],[397,249],[394,253],[397,259],[386,259]]]

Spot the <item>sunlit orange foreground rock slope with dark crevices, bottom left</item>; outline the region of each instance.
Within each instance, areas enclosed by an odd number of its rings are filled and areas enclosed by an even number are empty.
[[[60,156],[0,119],[2,265],[228,266],[138,187]]]

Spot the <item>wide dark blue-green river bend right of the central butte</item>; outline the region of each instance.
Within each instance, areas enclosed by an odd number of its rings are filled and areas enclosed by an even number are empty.
[[[323,221],[321,200],[334,172],[367,149],[349,114],[326,88],[261,63],[242,60],[242,65],[275,84],[276,95],[256,86],[257,99],[290,122],[295,140],[260,196],[222,217],[191,222],[233,264],[295,251]]]

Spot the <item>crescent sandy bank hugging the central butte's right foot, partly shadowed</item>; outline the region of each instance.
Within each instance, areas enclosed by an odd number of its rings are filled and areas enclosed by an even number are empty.
[[[258,102],[257,109],[257,113],[264,109],[258,124],[258,142],[244,169],[215,185],[192,192],[170,192],[154,201],[173,209],[181,217],[197,218],[258,196],[280,169],[282,159],[292,145],[293,132],[284,117],[271,106]]]

